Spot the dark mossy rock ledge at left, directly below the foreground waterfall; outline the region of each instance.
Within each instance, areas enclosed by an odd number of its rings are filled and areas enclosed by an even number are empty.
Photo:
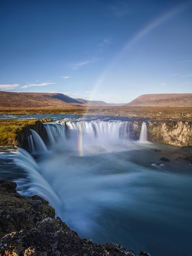
[[[0,180],[0,237],[12,231],[34,228],[38,221],[55,216],[55,210],[45,199],[21,196],[16,187],[15,182]]]

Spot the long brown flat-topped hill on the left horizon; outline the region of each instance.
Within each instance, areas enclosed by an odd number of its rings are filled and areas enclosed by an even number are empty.
[[[87,105],[110,106],[113,104],[99,100],[75,99],[62,93],[0,91],[0,107],[83,107]]]

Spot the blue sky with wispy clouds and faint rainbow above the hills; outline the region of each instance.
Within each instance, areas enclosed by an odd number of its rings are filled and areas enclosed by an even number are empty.
[[[126,103],[192,92],[192,1],[2,0],[0,90]]]

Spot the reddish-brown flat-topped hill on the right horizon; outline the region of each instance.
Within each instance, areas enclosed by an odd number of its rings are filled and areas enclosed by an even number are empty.
[[[192,106],[192,93],[143,94],[125,106],[183,107]]]

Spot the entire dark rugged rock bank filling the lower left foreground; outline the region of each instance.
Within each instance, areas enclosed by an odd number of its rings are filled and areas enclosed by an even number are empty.
[[[60,220],[39,196],[28,198],[15,190],[16,183],[0,180],[0,255],[6,256],[135,256],[124,247],[98,245]],[[141,256],[149,256],[141,252]]]

